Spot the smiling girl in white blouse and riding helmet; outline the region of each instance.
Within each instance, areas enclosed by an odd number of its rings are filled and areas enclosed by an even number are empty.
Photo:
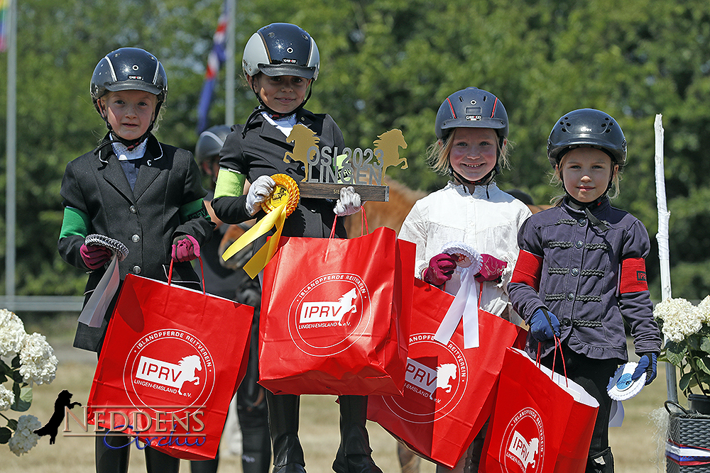
[[[501,166],[508,164],[506,108],[488,91],[459,90],[439,107],[435,131],[430,163],[450,180],[444,189],[414,204],[399,238],[417,245],[415,275],[454,295],[461,287],[461,274],[454,271],[457,257],[442,247],[452,242],[472,247],[483,259],[475,275],[482,285],[481,308],[517,322],[506,284],[518,257],[518,229],[531,213],[495,181]],[[437,472],[478,471],[485,430],[453,470],[438,465]]]

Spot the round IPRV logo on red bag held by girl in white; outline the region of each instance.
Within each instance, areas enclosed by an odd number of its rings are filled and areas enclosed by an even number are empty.
[[[432,423],[451,413],[461,401],[469,367],[456,344],[434,340],[433,333],[409,338],[405,396],[384,397],[386,406],[405,421]]]

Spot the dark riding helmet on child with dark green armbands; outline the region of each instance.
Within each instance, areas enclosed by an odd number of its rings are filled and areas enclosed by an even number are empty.
[[[154,55],[140,48],[119,48],[104,56],[94,69],[89,93],[94,107],[106,121],[109,130],[111,130],[111,126],[107,121],[106,114],[102,112],[99,99],[109,91],[121,90],[142,90],[158,97],[153,121],[141,138],[124,140],[115,136],[117,141],[124,143],[130,149],[146,139],[148,133],[153,130],[160,106],[168,99],[168,75],[165,74],[163,65]]]

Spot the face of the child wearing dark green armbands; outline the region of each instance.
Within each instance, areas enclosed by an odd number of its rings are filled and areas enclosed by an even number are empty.
[[[111,130],[124,140],[141,138],[155,118],[157,98],[150,92],[121,90],[100,100]]]

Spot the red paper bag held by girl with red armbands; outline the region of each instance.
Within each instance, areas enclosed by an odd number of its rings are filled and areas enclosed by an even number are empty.
[[[481,464],[486,472],[584,472],[598,409],[579,384],[509,349]]]

